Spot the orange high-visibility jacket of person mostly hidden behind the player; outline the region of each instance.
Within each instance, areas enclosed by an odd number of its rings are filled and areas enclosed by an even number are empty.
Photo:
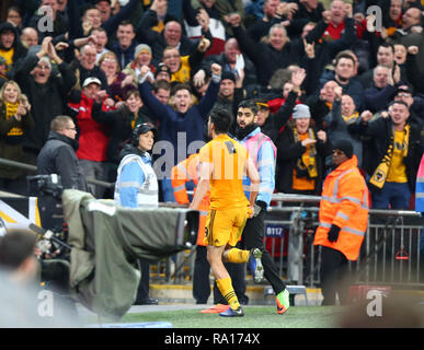
[[[174,189],[175,200],[179,203],[181,205],[190,203],[186,184],[190,182],[193,182],[194,191],[196,191],[196,186],[198,184],[199,178],[200,178],[200,163],[199,163],[198,153],[191,154],[186,160],[180,162],[172,168],[171,183],[172,183],[172,188]],[[206,218],[207,218],[207,213],[209,211],[209,205],[210,205],[209,197],[210,197],[210,192],[208,191],[197,208],[197,210],[200,213],[198,233],[197,233],[197,244],[203,246],[205,245],[205,243],[203,242],[205,237],[205,224],[206,224]]]

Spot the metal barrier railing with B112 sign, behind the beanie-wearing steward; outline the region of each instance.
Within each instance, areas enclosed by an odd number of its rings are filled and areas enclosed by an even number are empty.
[[[280,276],[290,283],[320,284],[321,248],[313,246],[319,200],[317,196],[273,196],[277,205],[265,219],[264,244]],[[285,207],[295,202],[300,205]],[[420,256],[423,224],[415,211],[371,209],[359,258],[349,262],[351,277],[366,284],[424,287],[424,257]]]

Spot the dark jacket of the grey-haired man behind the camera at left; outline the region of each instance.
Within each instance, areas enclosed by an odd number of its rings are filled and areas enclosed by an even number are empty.
[[[64,189],[72,188],[87,191],[85,178],[82,176],[78,158],[78,142],[65,135],[50,131],[48,140],[37,158],[39,175],[58,174]]]

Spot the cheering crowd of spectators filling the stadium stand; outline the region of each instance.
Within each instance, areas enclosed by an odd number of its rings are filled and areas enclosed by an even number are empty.
[[[83,176],[113,183],[137,125],[157,126],[173,166],[208,141],[213,108],[236,117],[241,101],[254,100],[256,125],[278,150],[277,191],[320,195],[331,142],[348,139],[373,208],[413,208],[424,144],[423,1],[9,3],[0,19],[0,158],[35,165],[50,121],[68,115]],[[0,190],[25,194],[25,175],[0,165]],[[167,177],[160,200],[174,200]]]

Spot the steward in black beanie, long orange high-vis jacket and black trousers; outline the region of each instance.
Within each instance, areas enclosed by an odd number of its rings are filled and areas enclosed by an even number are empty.
[[[335,293],[347,303],[347,289],[342,278],[347,261],[359,255],[368,225],[368,188],[357,167],[351,141],[333,142],[333,164],[323,184],[320,201],[320,223],[314,245],[321,245],[322,305],[335,304]]]

